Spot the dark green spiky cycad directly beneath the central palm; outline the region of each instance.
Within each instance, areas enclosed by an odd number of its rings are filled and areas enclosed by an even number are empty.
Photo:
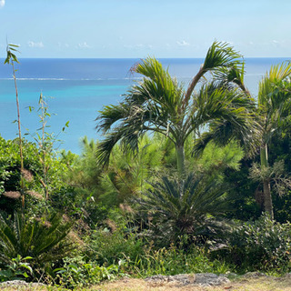
[[[227,209],[225,193],[226,188],[214,178],[206,180],[190,174],[181,180],[162,176],[135,202],[149,221],[150,235],[163,245],[176,243],[184,236],[192,241],[215,236],[218,239],[226,227],[221,220]]]

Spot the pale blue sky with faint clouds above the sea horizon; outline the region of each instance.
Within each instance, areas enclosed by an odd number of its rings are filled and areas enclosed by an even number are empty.
[[[0,57],[289,57],[290,0],[0,0]]]

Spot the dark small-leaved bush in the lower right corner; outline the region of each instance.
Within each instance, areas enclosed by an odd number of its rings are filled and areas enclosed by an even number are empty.
[[[285,272],[291,260],[291,225],[264,215],[254,223],[236,227],[226,258],[246,271],[272,268]]]

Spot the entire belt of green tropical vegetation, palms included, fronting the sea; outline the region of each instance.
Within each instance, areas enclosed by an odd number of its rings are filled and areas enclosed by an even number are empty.
[[[134,71],[80,156],[55,151],[43,95],[34,142],[0,136],[0,281],[290,272],[291,65],[271,68],[257,101],[224,43],[186,89],[154,58]]]

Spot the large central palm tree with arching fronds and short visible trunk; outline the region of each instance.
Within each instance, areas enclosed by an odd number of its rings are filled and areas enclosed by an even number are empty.
[[[236,137],[243,146],[253,145],[258,133],[255,103],[243,83],[241,55],[233,47],[214,42],[187,90],[155,58],[147,57],[133,69],[143,75],[142,81],[121,103],[105,106],[96,118],[97,128],[105,133],[97,150],[101,163],[108,163],[119,141],[125,150],[137,151],[139,137],[148,131],[166,135],[174,143],[180,176],[186,172],[184,147],[190,135],[200,137],[197,152],[211,140],[225,145]],[[211,80],[200,85],[206,74],[212,75]],[[210,127],[212,131],[206,133]]]

